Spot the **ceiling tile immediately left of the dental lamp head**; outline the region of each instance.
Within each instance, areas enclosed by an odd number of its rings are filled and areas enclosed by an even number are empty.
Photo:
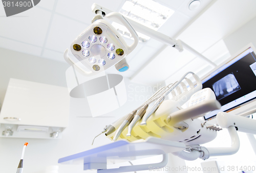
[[[87,24],[82,24],[55,14],[48,35],[46,48],[64,53],[75,38],[87,27]]]

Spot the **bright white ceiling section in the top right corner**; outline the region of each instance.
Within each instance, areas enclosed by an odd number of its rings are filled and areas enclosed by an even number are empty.
[[[179,39],[203,52],[256,15],[256,1],[217,1],[196,19]],[[242,10],[241,10],[242,9]]]

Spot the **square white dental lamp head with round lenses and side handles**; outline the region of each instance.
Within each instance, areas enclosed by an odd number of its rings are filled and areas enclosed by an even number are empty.
[[[92,72],[99,73],[119,63],[138,44],[137,33],[120,13],[112,12],[105,17],[119,20],[131,32],[134,42],[127,45],[110,22],[104,19],[95,20],[70,46],[75,58],[90,70],[90,72],[85,72],[86,76],[89,74],[92,76],[94,75]],[[76,65],[67,53],[65,53],[65,60],[71,65]]]

